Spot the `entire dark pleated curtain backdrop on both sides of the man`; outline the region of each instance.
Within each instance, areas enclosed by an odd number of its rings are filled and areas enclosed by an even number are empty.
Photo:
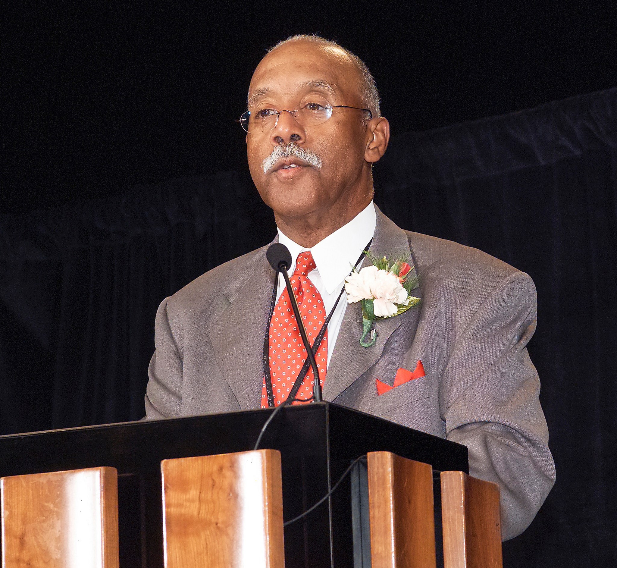
[[[392,140],[376,201],[401,227],[528,272],[529,351],[557,483],[505,566],[617,561],[617,90]],[[159,302],[267,243],[238,173],[0,217],[0,430],[138,419]]]

